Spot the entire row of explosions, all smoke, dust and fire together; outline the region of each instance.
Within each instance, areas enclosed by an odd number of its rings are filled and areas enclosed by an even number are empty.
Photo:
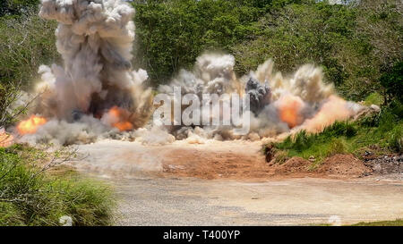
[[[233,55],[204,54],[196,59],[193,70],[181,70],[167,85],[159,86],[159,93],[172,95],[174,87],[180,87],[182,95],[193,94],[200,101],[203,94],[235,93],[241,99],[247,95],[250,112],[242,115],[250,118],[249,134],[239,136],[235,126],[217,124],[154,128],[150,126],[151,89],[142,85],[148,74],[132,70],[134,10],[130,4],[121,0],[41,3],[39,16],[58,22],[56,46],[64,65],[39,67],[41,81],[31,97],[40,96],[30,113],[41,116],[32,115],[17,125],[21,141],[69,145],[112,138],[161,145],[175,139],[254,140],[296,130],[317,132],[362,108],[353,109],[352,103],[337,97],[333,85],[323,82],[322,70],[313,65],[286,77],[273,72],[274,63],[268,60],[256,71],[237,77]],[[227,101],[220,99],[211,109]],[[207,114],[207,119],[210,116],[210,121],[223,116],[203,113],[201,107],[198,112]]]

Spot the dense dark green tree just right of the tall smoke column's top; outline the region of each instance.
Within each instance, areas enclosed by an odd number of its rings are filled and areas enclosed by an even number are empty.
[[[136,9],[137,60],[153,84],[189,68],[206,50],[229,47],[253,37],[262,10],[247,1],[180,0],[133,3]]]

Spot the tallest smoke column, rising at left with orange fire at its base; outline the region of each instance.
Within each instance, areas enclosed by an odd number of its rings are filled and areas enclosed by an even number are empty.
[[[39,16],[58,22],[56,47],[64,65],[39,67],[32,113],[49,122],[27,137],[87,142],[110,127],[132,130],[148,122],[150,89],[141,85],[148,75],[131,67],[133,14],[121,0],[42,0]]]

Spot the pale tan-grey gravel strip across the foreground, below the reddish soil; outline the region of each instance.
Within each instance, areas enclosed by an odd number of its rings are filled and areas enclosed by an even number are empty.
[[[268,182],[138,177],[116,187],[117,225],[305,225],[403,218],[401,181]]]

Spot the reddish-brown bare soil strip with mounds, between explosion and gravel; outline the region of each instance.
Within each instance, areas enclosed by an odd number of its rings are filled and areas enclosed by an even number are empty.
[[[258,152],[210,152],[206,150],[176,149],[163,160],[167,176],[214,179],[268,179],[268,178],[354,178],[371,170],[352,155],[327,158],[317,169],[309,170],[312,163],[301,157],[292,157],[284,164],[269,164]]]

